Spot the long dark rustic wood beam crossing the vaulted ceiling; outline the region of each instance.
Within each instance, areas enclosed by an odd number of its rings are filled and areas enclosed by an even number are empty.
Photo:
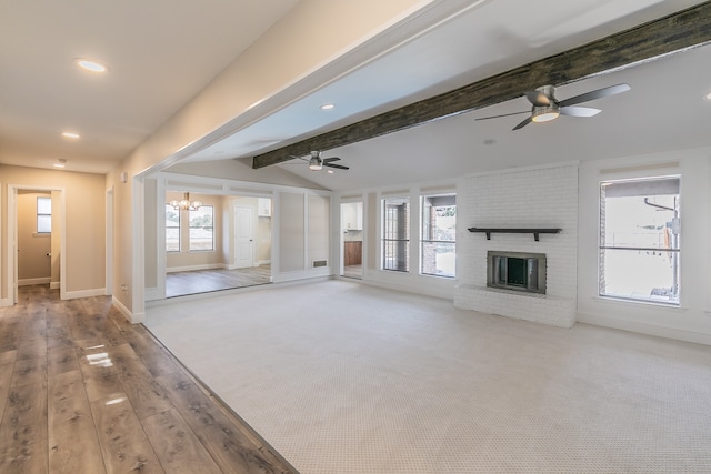
[[[397,132],[433,120],[470,112],[523,95],[544,84],[561,85],[711,42],[711,1],[611,34],[450,92],[257,155],[259,169],[350,143]]]

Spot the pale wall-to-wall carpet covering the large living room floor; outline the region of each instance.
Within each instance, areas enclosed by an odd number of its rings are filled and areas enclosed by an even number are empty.
[[[302,474],[711,472],[708,346],[343,281],[147,320]]]

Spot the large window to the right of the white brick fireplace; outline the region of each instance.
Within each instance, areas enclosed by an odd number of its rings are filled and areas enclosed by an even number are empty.
[[[600,295],[679,304],[679,177],[600,186]]]

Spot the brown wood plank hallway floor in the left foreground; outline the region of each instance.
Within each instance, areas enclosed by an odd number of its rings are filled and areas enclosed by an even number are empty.
[[[296,473],[110,297],[0,309],[0,472]]]

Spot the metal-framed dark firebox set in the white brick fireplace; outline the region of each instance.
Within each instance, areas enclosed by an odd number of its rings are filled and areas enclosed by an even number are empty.
[[[545,294],[545,254],[487,252],[487,286]]]

